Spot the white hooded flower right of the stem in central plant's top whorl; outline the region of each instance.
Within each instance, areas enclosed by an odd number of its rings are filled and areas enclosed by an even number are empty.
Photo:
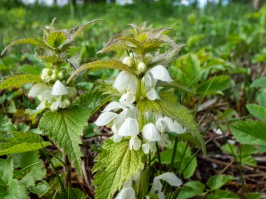
[[[144,78],[142,78],[141,80],[142,84],[144,84],[146,96],[151,101],[160,99],[157,91],[155,90],[158,80],[161,80],[163,82],[173,81],[165,66],[162,65],[154,66],[145,73]]]

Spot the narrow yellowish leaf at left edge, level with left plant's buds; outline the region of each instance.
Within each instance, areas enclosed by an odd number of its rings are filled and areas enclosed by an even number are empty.
[[[8,89],[10,87],[22,87],[22,85],[24,84],[38,82],[41,82],[41,77],[39,75],[10,75],[0,82],[0,89]]]

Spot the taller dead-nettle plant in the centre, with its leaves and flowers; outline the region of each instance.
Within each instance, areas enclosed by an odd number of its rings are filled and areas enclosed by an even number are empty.
[[[98,126],[110,126],[113,132],[95,159],[95,198],[112,198],[118,190],[117,198],[164,198],[160,180],[171,186],[180,186],[182,182],[172,172],[165,172],[154,177],[149,187],[151,160],[158,158],[160,163],[160,149],[172,139],[177,142],[178,135],[190,133],[190,138],[205,152],[193,115],[179,103],[174,91],[157,87],[158,82],[172,82],[167,67],[176,59],[181,45],[166,35],[171,29],[130,25],[132,34],[113,36],[100,51],[124,50],[127,57],[123,62],[93,61],[78,68],[69,79],[82,71],[120,70],[113,82],[100,82],[104,94],[118,96],[119,101],[106,105],[95,121]],[[168,187],[165,192],[169,190]]]

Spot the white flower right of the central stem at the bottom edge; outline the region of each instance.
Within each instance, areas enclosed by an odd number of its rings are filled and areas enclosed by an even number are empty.
[[[151,186],[150,194],[151,196],[155,196],[155,194],[158,194],[159,199],[164,199],[165,195],[162,193],[162,183],[160,180],[165,180],[168,184],[171,186],[181,186],[182,181],[176,175],[172,174],[171,172],[165,172],[162,175],[159,175],[158,177],[155,177],[153,179],[153,186]]]

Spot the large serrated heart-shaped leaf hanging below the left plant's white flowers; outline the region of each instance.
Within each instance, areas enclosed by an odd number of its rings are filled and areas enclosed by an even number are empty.
[[[78,145],[81,143],[80,135],[89,117],[88,108],[73,106],[69,110],[45,112],[38,124],[38,128],[43,130],[45,135],[49,135],[51,140],[64,149],[64,153],[69,156],[79,175],[82,175],[80,157],[83,154]]]

